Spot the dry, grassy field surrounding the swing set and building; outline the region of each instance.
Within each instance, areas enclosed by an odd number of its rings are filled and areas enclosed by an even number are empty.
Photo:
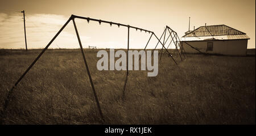
[[[0,107],[40,50],[0,50]],[[163,55],[159,73],[98,71],[85,50],[104,124],[255,124],[255,57]],[[125,90],[124,90],[125,88]],[[47,50],[18,84],[3,124],[100,124],[80,50]]]

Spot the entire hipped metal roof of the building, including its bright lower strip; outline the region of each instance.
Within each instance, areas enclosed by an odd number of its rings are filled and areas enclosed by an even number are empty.
[[[181,41],[250,39],[246,33],[225,24],[201,26],[181,37]]]

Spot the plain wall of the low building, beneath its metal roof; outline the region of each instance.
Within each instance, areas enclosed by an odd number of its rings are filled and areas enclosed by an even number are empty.
[[[245,56],[247,49],[247,40],[218,40],[218,41],[186,41],[194,48],[199,49],[201,52],[209,54],[224,54],[234,56]],[[213,50],[207,51],[207,42],[213,42]],[[197,50],[191,48],[185,42],[181,41],[185,52],[199,53]]]

